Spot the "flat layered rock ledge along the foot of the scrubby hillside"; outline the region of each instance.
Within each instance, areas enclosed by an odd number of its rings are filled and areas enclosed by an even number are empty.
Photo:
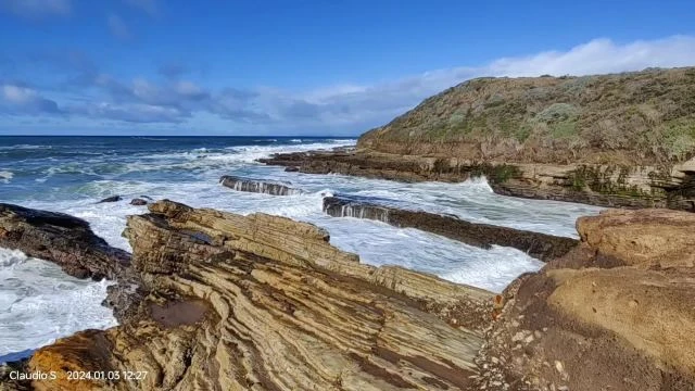
[[[695,160],[670,167],[503,163],[358,149],[280,153],[258,162],[308,174],[336,173],[402,181],[457,182],[485,176],[492,189],[504,195],[695,212]]]

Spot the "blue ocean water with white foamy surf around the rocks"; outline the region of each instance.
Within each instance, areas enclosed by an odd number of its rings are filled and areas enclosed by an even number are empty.
[[[402,265],[493,291],[542,263],[516,249],[482,250],[416,229],[329,217],[321,212],[323,198],[334,193],[387,198],[408,207],[567,237],[576,237],[577,217],[601,211],[497,195],[484,178],[401,184],[286,173],[255,162],[277,152],[354,143],[354,139],[281,137],[0,137],[0,202],[81,217],[109,243],[126,250],[129,245],[121,237],[126,216],[147,211],[129,205],[135,197],[167,198],[241,214],[265,212],[327,228],[331,243],[359,254],[365,263]],[[237,192],[218,184],[222,175],[289,181],[303,193]],[[115,194],[124,200],[97,203]],[[115,325],[110,311],[100,305],[106,286],[106,281],[72,278],[48,262],[0,249],[0,362],[80,329]]]

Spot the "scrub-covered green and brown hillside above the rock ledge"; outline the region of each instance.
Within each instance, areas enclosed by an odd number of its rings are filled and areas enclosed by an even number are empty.
[[[670,165],[695,155],[695,67],[471,79],[366,133],[359,147],[517,163]]]

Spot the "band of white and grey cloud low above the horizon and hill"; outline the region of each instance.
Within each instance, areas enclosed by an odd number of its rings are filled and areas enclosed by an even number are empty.
[[[205,88],[187,80],[184,66],[162,67],[165,77],[122,80],[86,67],[77,92],[90,91],[84,103],[59,104],[26,87],[3,91],[14,112],[38,110],[87,118],[138,123],[186,124],[197,115],[216,116],[261,129],[321,128],[354,133],[388,122],[422,99],[479,76],[587,75],[646,67],[695,65],[695,37],[617,43],[595,39],[567,51],[503,58],[478,66],[435,70],[376,85],[337,84],[309,91],[277,88]],[[84,92],[87,94],[87,92]],[[76,97],[74,101],[81,97]],[[12,104],[8,103],[12,102]],[[59,102],[60,103],[60,102]],[[18,110],[23,108],[24,111]]]

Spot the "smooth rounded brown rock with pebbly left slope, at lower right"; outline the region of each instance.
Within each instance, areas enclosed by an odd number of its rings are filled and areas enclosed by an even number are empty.
[[[578,228],[581,247],[505,291],[476,387],[695,389],[695,217],[610,211]]]

